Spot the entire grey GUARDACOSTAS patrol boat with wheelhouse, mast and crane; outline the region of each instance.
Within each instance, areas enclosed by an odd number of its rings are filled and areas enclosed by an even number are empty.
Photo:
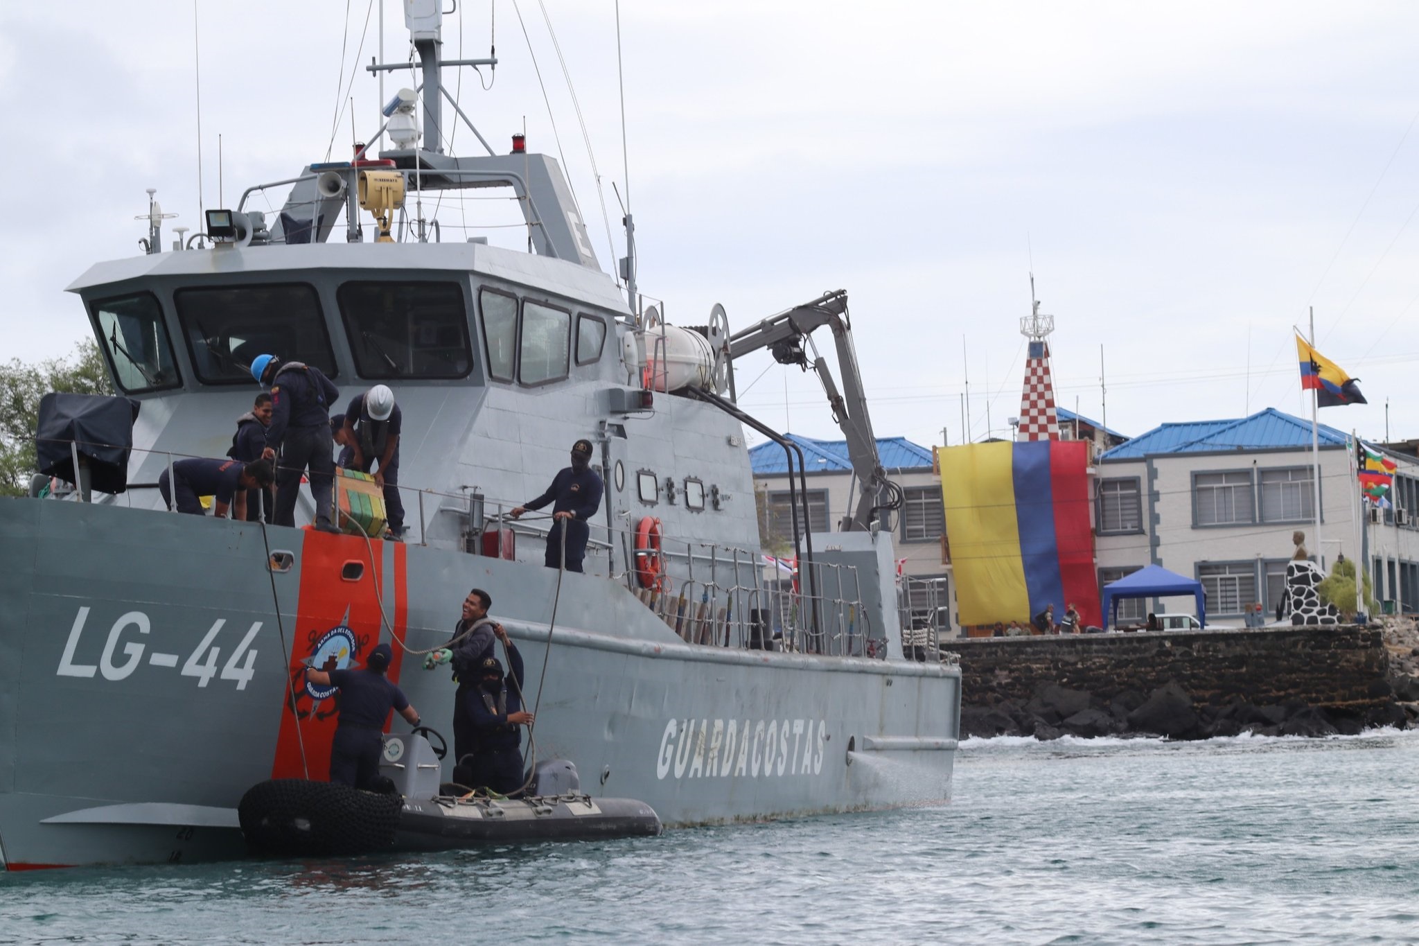
[[[359,667],[390,641],[393,678],[451,729],[454,684],[421,654],[473,587],[526,662],[525,755],[573,762],[593,797],[643,800],[670,827],[948,798],[961,672],[934,645],[904,657],[900,491],[877,458],[846,294],[736,333],[719,306],[704,326],[666,325],[636,289],[630,220],[623,296],[552,157],[521,138],[509,155],[441,150],[443,99],[471,128],[441,69],[471,62],[440,62],[437,0],[404,6],[421,94],[389,102],[377,157],[253,187],[182,251],[163,251],[155,203],[146,254],[68,286],[138,410],[126,489],[79,472],[71,501],[0,499],[0,859],[240,855],[250,786],[326,774],[336,705],[305,665]],[[289,187],[280,213],[247,208],[274,187]],[[443,243],[417,213],[488,187],[515,197],[528,252]],[[734,363],[762,349],[822,377],[847,438],[858,498],[832,533],[807,530],[792,441],[735,403]],[[160,472],[227,451],[263,352],[319,366],[343,397],[394,390],[404,542],[166,512]],[[763,567],[745,427],[796,475],[792,576]],[[543,566],[548,519],[504,515],[579,438],[606,481],[585,574]],[[82,471],[96,445],[74,441]],[[302,486],[297,522],[312,515]]]

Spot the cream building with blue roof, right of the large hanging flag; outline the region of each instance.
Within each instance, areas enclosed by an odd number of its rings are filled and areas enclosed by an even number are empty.
[[[1323,567],[1338,555],[1358,556],[1378,599],[1413,610],[1419,530],[1408,511],[1419,508],[1419,462],[1392,455],[1398,475],[1391,495],[1401,512],[1371,512],[1359,502],[1348,437],[1320,424],[1317,440],[1320,536],[1307,418],[1269,407],[1247,417],[1168,423],[1103,452],[1094,489],[1100,584],[1159,564],[1202,581],[1209,621],[1242,624],[1257,604],[1274,618],[1286,563],[1296,553],[1293,535],[1301,532]],[[1141,623],[1159,606],[1137,601],[1121,623]]]

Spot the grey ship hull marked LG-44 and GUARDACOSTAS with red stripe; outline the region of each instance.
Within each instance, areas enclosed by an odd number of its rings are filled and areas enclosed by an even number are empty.
[[[342,648],[360,665],[393,641],[392,678],[451,738],[454,682],[416,651],[447,641],[471,587],[524,657],[524,753],[570,759],[593,797],[646,801],[668,827],[949,797],[955,667],[690,645],[624,584],[526,563],[6,499],[7,867],[240,854],[250,786],[326,774],[336,699],[301,668]]]

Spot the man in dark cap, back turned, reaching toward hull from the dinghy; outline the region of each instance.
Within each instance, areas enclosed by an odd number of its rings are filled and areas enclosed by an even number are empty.
[[[331,781],[335,784],[386,790],[387,779],[379,774],[379,753],[385,742],[385,720],[397,709],[410,726],[419,726],[419,712],[409,705],[404,691],[385,677],[393,657],[389,644],[369,652],[363,669],[305,668],[305,679],[316,686],[338,686],[341,716],[331,742]]]

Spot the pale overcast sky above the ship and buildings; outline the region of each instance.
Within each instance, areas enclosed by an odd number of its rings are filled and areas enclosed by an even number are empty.
[[[140,252],[145,189],[196,228],[199,167],[201,206],[231,206],[373,133],[379,6],[0,6],[20,155],[0,359],[88,333],[64,288]],[[385,61],[409,58],[402,6]],[[719,302],[741,329],[847,289],[880,437],[1009,435],[1033,272],[1057,400],[1086,417],[1308,417],[1293,326],[1314,309],[1369,400],[1321,420],[1401,440],[1419,437],[1416,27],[1405,3],[624,0],[624,156],[613,1],[460,0],[444,57],[499,64],[444,82],[497,150],[525,128],[559,156],[607,271],[630,199],[640,289],[670,322]],[[478,152],[465,128],[453,149]],[[446,238],[525,241],[505,200],[438,213]],[[771,425],[839,435],[810,374],[758,355],[736,380]]]

